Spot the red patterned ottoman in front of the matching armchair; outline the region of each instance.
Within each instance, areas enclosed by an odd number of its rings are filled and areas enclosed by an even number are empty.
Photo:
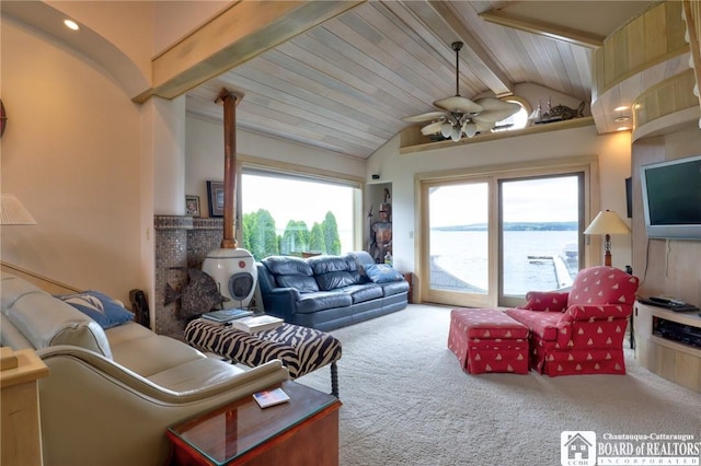
[[[448,348],[470,374],[528,373],[528,327],[498,310],[450,311]]]

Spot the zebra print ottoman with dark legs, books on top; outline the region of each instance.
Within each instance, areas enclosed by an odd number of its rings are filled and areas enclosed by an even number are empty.
[[[341,359],[341,341],[323,331],[283,324],[272,330],[248,334],[195,319],[185,327],[185,341],[200,351],[214,352],[250,368],[279,359],[291,378],[331,364],[331,394],[338,397],[336,361]]]

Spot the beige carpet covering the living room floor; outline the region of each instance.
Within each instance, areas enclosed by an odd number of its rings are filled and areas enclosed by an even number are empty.
[[[701,441],[701,394],[642,369],[551,378],[462,372],[450,308],[409,308],[332,331],[343,407],[341,465],[560,465],[561,432],[685,433]],[[329,392],[329,370],[298,382]]]

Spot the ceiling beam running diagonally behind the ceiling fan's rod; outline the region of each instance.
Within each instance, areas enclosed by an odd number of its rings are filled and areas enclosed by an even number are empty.
[[[420,1],[407,2],[406,4],[444,42],[447,39],[446,32],[450,32],[450,36],[453,38],[447,40],[447,44],[450,44],[455,38],[463,42],[462,60],[469,63],[480,81],[496,96],[513,95],[514,83],[510,82],[506,72],[482,48],[480,43],[445,2]]]

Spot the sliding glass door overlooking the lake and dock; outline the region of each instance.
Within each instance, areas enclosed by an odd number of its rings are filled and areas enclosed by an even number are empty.
[[[424,301],[516,306],[566,288],[584,257],[585,173],[422,183]]]

